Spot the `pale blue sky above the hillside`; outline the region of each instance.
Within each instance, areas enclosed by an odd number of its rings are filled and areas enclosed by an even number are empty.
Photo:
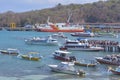
[[[41,10],[54,7],[58,3],[67,5],[71,3],[85,4],[97,1],[99,0],[0,0],[0,13],[7,11],[26,12]]]

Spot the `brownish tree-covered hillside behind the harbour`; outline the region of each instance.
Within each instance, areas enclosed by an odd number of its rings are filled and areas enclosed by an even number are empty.
[[[120,0],[69,5],[59,3],[53,8],[42,10],[32,10],[22,13],[8,11],[0,13],[0,26],[6,27],[12,22],[20,27],[26,24],[44,24],[48,16],[51,22],[66,22],[70,14],[72,14],[70,19],[71,23],[119,23],[119,4]]]

